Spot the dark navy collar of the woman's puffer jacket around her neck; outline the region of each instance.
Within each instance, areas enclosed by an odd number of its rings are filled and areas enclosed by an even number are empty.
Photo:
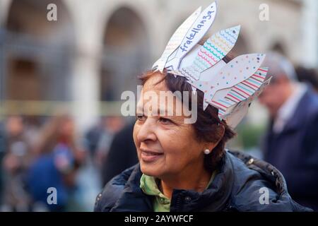
[[[218,167],[218,173],[213,183],[208,186],[204,192],[186,191],[176,189],[172,194],[170,206],[171,212],[188,212],[188,211],[221,211],[228,204],[232,184],[233,171],[232,161],[225,153],[223,160]],[[148,212],[153,211],[153,197],[147,196],[140,189],[141,179],[140,165],[136,165],[126,182],[122,195],[111,211],[119,212]],[[213,205],[211,205],[213,203]]]

